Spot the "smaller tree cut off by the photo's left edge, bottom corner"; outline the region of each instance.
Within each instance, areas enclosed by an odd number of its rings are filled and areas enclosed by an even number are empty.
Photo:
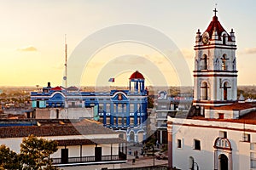
[[[20,161],[19,156],[15,151],[10,150],[4,144],[0,145],[0,170],[2,169],[19,169]]]

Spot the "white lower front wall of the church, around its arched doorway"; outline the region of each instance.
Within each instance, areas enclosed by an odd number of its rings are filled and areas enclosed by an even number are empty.
[[[250,143],[243,142],[243,133],[251,135],[251,143],[256,143],[256,125],[243,123],[182,120],[168,117],[173,124],[173,166],[189,169],[189,156],[193,156],[200,169],[213,169],[214,142],[220,131],[227,132],[232,148],[233,170],[250,169]],[[182,149],[177,148],[177,139],[183,140]],[[201,150],[194,150],[194,139],[201,141]]]

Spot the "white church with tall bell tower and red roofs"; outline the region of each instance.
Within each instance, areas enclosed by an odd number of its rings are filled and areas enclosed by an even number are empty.
[[[216,15],[196,32],[194,100],[189,116],[168,117],[168,166],[256,169],[256,104],[238,101],[236,38]]]

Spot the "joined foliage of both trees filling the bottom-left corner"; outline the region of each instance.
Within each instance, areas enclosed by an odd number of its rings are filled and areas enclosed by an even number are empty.
[[[50,154],[57,151],[53,140],[37,138],[33,135],[22,139],[20,154],[15,153],[4,144],[0,145],[0,170],[2,169],[56,169],[52,167]]]

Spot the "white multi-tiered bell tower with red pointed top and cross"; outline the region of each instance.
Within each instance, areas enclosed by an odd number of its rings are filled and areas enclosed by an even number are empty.
[[[196,32],[194,101],[197,106],[230,105],[237,100],[236,38],[214,16],[207,30]]]

